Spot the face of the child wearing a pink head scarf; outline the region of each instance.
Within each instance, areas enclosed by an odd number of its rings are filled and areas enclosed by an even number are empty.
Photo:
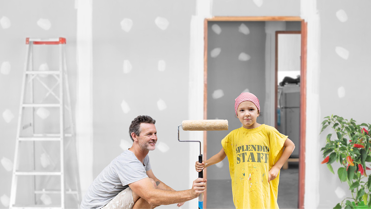
[[[242,123],[242,126],[247,129],[257,128],[260,124],[256,123],[256,118],[259,116],[257,107],[253,102],[241,102],[237,108],[237,118]]]

